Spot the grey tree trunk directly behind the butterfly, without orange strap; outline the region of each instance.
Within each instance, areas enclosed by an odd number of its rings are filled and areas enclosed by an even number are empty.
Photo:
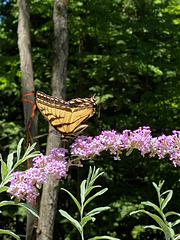
[[[52,95],[65,99],[66,96],[66,68],[68,58],[68,30],[67,30],[68,0],[54,0],[54,61],[52,66]],[[60,135],[50,126],[46,154],[53,147],[61,146]],[[53,239],[54,220],[57,210],[59,181],[49,176],[47,184],[43,186],[40,206],[40,220],[37,229],[38,240]]]

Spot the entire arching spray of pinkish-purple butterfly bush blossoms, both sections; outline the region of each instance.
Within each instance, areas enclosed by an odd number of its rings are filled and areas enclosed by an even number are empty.
[[[71,160],[66,160],[68,150],[64,148],[53,148],[49,155],[40,154],[33,159],[32,168],[25,173],[13,174],[8,192],[18,199],[33,202],[49,174],[55,179],[65,178],[69,166],[82,167],[80,160],[93,158],[102,151],[109,151],[115,160],[120,160],[123,150],[129,155],[133,149],[138,149],[143,157],[148,154],[149,157],[157,156],[162,159],[168,155],[175,167],[180,166],[180,131],[174,130],[172,133],[153,138],[150,127],[145,126],[134,131],[126,129],[122,134],[111,130],[102,131],[94,138],[79,136],[70,146]]]

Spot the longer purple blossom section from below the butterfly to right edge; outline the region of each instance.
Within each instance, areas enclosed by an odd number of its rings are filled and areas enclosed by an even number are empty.
[[[150,128],[140,127],[137,130],[124,130],[122,134],[116,131],[103,131],[92,138],[79,136],[71,145],[71,154],[81,159],[92,158],[101,151],[109,150],[115,160],[119,160],[122,150],[129,155],[133,149],[138,149],[141,155],[149,157],[157,155],[159,159],[170,156],[174,166],[180,166],[180,131],[173,131],[173,135],[153,138]]]

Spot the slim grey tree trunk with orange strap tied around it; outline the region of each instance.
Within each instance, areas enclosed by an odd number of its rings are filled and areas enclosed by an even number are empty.
[[[29,138],[31,144],[34,142],[34,137],[38,135],[38,119],[35,113],[35,87],[33,79],[33,67],[31,56],[31,40],[30,40],[30,14],[28,0],[18,0],[19,18],[18,18],[18,47],[21,61],[21,77],[22,77],[22,95],[23,95],[23,110],[24,124],[27,131],[27,144]],[[39,149],[38,140],[36,140],[36,150]],[[31,206],[38,210],[38,204]],[[38,219],[28,212],[26,239],[35,239],[35,226]]]

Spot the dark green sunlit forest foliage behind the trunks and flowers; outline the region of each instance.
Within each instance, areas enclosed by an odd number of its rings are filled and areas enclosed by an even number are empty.
[[[17,5],[0,1],[0,151],[5,159],[25,136],[21,101],[21,75],[17,47]],[[88,120],[84,134],[102,130],[131,130],[149,125],[153,136],[171,134],[180,126],[180,4],[178,0],[69,0],[69,60],[67,99],[96,93],[97,114]],[[52,0],[31,1],[31,40],[37,90],[51,94],[53,41]],[[39,115],[40,133],[47,122]],[[41,139],[45,152],[46,137]],[[146,216],[129,216],[141,200],[155,196],[151,182],[165,179],[174,189],[170,207],[178,211],[180,174],[168,159],[141,157],[134,151],[122,161],[103,154],[83,169],[71,169],[70,180],[61,182],[74,195],[89,165],[105,172],[101,185],[108,187],[102,205],[111,210],[101,217],[89,234],[109,234],[123,240],[160,239],[162,235],[142,228]],[[99,204],[98,204],[99,205]],[[71,214],[73,204],[60,192],[58,206]],[[22,215],[7,214],[12,229],[22,234]],[[112,221],[113,219],[113,221]],[[3,221],[4,222],[4,221]],[[14,223],[16,222],[16,227]],[[2,224],[2,222],[0,222]],[[19,227],[20,226],[20,227]],[[95,235],[94,234],[94,235]],[[54,239],[76,239],[69,223],[57,214]]]

